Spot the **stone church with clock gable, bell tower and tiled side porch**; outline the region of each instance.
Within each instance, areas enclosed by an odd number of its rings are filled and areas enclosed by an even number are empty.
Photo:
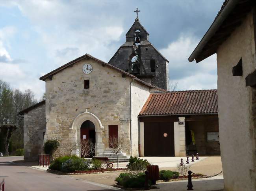
[[[170,92],[169,61],[148,37],[137,16],[108,63],[85,54],[41,76],[45,100],[19,112],[24,160],[37,160],[52,138],[60,142],[58,155],[91,139],[95,156],[104,156],[113,136],[128,142],[126,159],[220,155],[217,90]]]

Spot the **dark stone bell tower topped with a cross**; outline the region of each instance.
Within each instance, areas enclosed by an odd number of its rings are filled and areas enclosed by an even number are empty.
[[[149,33],[139,22],[138,8],[134,12],[137,17],[126,33],[126,42],[108,63],[149,84],[168,89],[169,61],[148,41]]]

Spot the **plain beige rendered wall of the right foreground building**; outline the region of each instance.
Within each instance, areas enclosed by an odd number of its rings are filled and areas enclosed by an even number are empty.
[[[243,76],[232,67],[242,58]],[[218,110],[224,189],[252,191],[256,187],[255,127],[252,88],[245,77],[256,69],[252,13],[217,50]]]

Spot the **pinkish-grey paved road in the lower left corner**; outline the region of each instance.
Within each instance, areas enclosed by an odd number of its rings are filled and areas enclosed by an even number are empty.
[[[32,167],[17,166],[12,160],[22,156],[0,157],[0,180],[5,178],[5,191],[113,191],[112,187],[68,175],[55,175]]]

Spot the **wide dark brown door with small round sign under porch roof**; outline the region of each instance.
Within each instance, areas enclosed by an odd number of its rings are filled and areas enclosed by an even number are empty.
[[[173,122],[144,122],[144,155],[174,156]]]

